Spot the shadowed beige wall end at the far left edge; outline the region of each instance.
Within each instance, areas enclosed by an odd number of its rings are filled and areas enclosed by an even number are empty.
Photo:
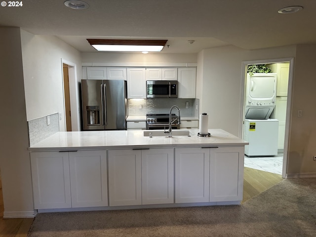
[[[20,29],[0,27],[0,170],[4,217],[34,214]]]

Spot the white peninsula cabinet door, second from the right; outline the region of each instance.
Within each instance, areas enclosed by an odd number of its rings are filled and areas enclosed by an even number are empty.
[[[209,148],[175,149],[175,202],[208,202]]]

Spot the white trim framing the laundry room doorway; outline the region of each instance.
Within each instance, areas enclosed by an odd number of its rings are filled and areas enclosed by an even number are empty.
[[[240,110],[240,121],[241,127],[239,127],[239,135],[243,138],[243,121],[244,121],[244,107],[245,107],[245,88],[246,88],[246,67],[251,64],[270,64],[270,63],[284,63],[289,62],[289,76],[288,76],[288,87],[287,87],[287,102],[286,102],[286,119],[285,119],[285,136],[284,136],[284,152],[283,152],[283,164],[282,164],[282,178],[286,178],[286,170],[287,170],[287,160],[288,160],[288,144],[289,144],[289,131],[291,124],[291,111],[292,111],[292,85],[293,85],[293,75],[294,75],[294,58],[277,58],[277,59],[262,59],[262,60],[250,60],[250,61],[242,61],[241,66],[241,77],[243,83],[241,91],[242,96],[240,97],[240,104],[242,110]]]

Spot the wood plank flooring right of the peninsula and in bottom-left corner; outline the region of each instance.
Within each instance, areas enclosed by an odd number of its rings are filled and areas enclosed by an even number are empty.
[[[254,197],[282,180],[281,175],[244,167],[243,200]],[[0,237],[27,237],[34,218],[3,219],[0,178]]]

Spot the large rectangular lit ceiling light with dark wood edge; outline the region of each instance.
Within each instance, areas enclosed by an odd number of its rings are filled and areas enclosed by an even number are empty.
[[[168,40],[105,40],[87,39],[98,51],[159,52]]]

